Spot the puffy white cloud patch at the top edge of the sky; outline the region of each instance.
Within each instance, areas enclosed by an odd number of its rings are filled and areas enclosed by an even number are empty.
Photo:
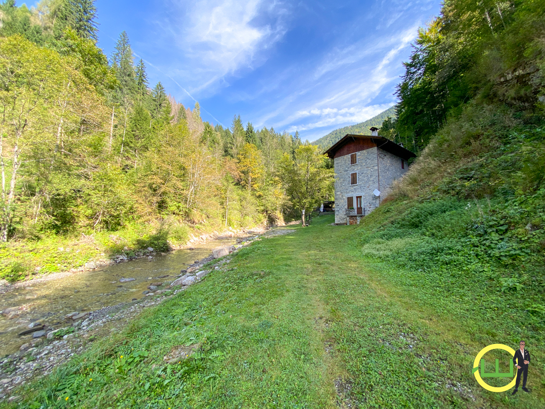
[[[171,71],[185,76],[190,92],[213,92],[225,85],[225,77],[240,69],[264,63],[263,51],[286,32],[281,3],[263,0],[201,0],[191,8],[174,7],[176,15],[165,23],[175,39],[178,52],[191,66],[191,76],[183,69]]]

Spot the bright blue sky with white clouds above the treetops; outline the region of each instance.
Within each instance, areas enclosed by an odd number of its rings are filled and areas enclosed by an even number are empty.
[[[129,34],[150,86],[204,121],[299,130],[310,141],[395,102],[411,42],[439,0],[97,0],[108,56]],[[185,91],[184,91],[185,90]]]

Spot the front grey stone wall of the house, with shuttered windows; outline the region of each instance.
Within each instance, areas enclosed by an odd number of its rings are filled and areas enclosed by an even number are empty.
[[[346,223],[346,198],[362,196],[362,205],[368,214],[378,206],[373,190],[378,188],[377,148],[356,152],[358,163],[350,165],[350,155],[335,158],[335,222]],[[350,173],[358,173],[358,184],[350,185]]]

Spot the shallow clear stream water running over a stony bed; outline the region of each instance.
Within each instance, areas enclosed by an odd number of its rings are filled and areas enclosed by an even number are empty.
[[[195,245],[195,250],[175,250],[154,255],[153,260],[137,258],[86,272],[44,281],[29,282],[27,287],[0,294],[0,310],[24,306],[19,317],[8,320],[0,316],[0,356],[19,350],[32,334],[18,336],[32,322],[54,328],[65,327],[64,316],[75,311],[94,311],[105,306],[144,297],[143,291],[152,282],[172,281],[189,264],[207,257],[211,249],[232,244],[234,239],[210,240]],[[120,282],[122,278],[134,281]]]

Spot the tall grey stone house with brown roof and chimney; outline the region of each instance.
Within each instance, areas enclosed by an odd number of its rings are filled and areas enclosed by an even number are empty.
[[[345,135],[324,152],[335,164],[335,223],[358,224],[380,204],[392,183],[409,168],[416,155],[403,144],[378,136]]]

